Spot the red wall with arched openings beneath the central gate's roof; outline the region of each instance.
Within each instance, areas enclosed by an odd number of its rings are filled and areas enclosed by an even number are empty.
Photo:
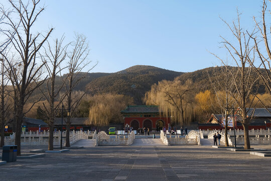
[[[152,129],[156,129],[156,123],[157,121],[161,120],[164,122],[164,126],[167,127],[168,129],[168,124],[170,123],[170,118],[166,118],[166,117],[126,117],[124,118],[124,127],[126,124],[128,124],[129,126],[131,125],[131,122],[133,120],[137,120],[139,122],[139,128],[143,128],[143,124],[145,120],[151,120],[152,122]]]

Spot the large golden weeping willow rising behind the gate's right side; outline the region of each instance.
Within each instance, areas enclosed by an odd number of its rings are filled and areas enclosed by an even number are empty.
[[[184,125],[194,118],[192,90],[191,80],[184,84],[177,78],[173,81],[162,80],[152,85],[144,101],[147,105],[158,105],[160,112],[164,116],[170,116],[176,125]]]

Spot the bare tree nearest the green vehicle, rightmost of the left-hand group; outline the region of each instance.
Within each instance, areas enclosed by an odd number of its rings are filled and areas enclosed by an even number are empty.
[[[96,65],[87,68],[91,63],[88,60],[89,46],[86,41],[86,37],[82,34],[75,34],[75,41],[71,43],[72,50],[68,53],[68,79],[66,81],[67,88],[67,109],[69,112],[66,124],[66,147],[70,146],[70,126],[71,126],[71,111],[76,109],[87,91],[81,96],[77,97],[76,100],[72,98],[72,92],[75,86],[82,81],[87,73]],[[85,72],[82,72],[86,68]]]

